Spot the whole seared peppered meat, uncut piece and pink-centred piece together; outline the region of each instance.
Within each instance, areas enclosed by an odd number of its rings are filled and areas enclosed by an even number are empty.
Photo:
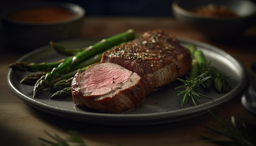
[[[185,75],[191,55],[173,35],[147,31],[140,38],[103,53],[101,63],[76,73],[72,98],[77,106],[104,113],[138,108],[155,88]]]

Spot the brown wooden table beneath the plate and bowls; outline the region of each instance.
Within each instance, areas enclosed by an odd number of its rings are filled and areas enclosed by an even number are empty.
[[[249,28],[245,36],[238,41],[217,43],[207,40],[202,34],[168,17],[86,17],[82,36],[112,35],[130,28],[138,34],[147,30],[164,29],[177,37],[211,44],[240,60],[248,72],[250,72],[250,65],[256,62],[255,25]],[[2,40],[1,42],[3,43]],[[44,131],[66,137],[68,130],[79,131],[88,146],[211,146],[213,144],[205,143],[199,135],[219,137],[204,127],[210,121],[214,121],[208,113],[170,124],[123,127],[84,124],[37,111],[16,97],[7,86],[8,64],[15,62],[24,53],[8,51],[2,43],[0,48],[1,145],[4,143],[4,145],[35,146],[39,145],[38,137],[49,138]],[[256,117],[245,110],[240,99],[241,94],[214,110],[214,113],[221,119],[230,119],[234,115],[236,121],[256,123]]]

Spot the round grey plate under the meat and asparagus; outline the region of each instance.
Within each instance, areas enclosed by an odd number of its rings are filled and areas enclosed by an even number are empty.
[[[81,47],[88,46],[99,40],[99,38],[80,38],[60,43],[67,47]],[[232,89],[226,94],[217,93],[214,88],[210,88],[207,91],[202,90],[201,93],[213,99],[200,99],[203,104],[198,106],[193,106],[190,102],[187,102],[185,107],[181,109],[181,97],[177,97],[176,92],[178,90],[174,89],[181,85],[177,81],[153,91],[153,93],[146,97],[139,109],[122,114],[106,114],[74,108],[72,98],[49,100],[49,97],[52,95],[49,90],[45,90],[39,97],[33,98],[33,86],[19,84],[20,80],[29,75],[29,73],[10,69],[7,80],[9,87],[16,96],[40,111],[74,121],[122,126],[166,124],[196,117],[229,102],[243,90],[248,77],[243,65],[236,58],[221,49],[202,42],[182,38],[179,40],[184,46],[190,44],[197,45],[198,49],[203,51],[205,57],[212,62],[213,66],[216,66],[222,73],[229,76]],[[50,46],[43,46],[24,55],[17,61],[39,63],[52,62],[61,58],[64,58],[64,56],[57,54]]]

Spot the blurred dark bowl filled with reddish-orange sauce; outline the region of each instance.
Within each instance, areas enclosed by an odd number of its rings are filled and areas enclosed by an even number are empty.
[[[8,9],[2,13],[6,47],[27,52],[49,41],[77,38],[81,36],[84,15],[82,7],[65,2],[31,3]]]

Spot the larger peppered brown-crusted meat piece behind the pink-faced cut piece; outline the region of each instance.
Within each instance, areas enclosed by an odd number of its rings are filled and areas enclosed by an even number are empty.
[[[104,52],[101,62],[113,62],[137,73],[147,95],[185,75],[191,68],[191,55],[175,36],[154,30]]]

